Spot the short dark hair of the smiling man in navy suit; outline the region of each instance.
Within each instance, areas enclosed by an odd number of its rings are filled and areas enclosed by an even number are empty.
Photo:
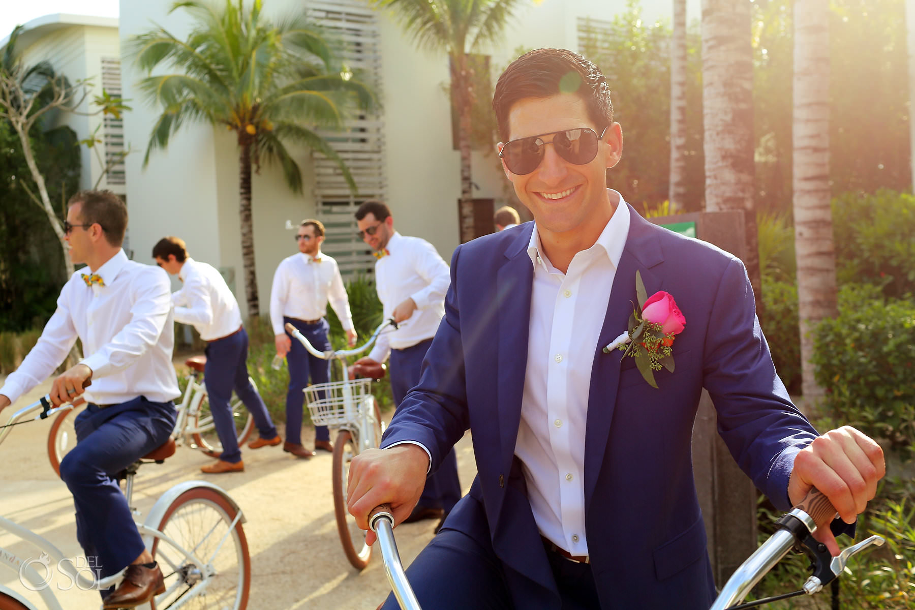
[[[610,87],[597,66],[565,48],[535,48],[512,61],[496,82],[492,110],[501,141],[509,141],[509,112],[515,102],[557,93],[575,93],[585,102],[597,134],[613,123]]]

